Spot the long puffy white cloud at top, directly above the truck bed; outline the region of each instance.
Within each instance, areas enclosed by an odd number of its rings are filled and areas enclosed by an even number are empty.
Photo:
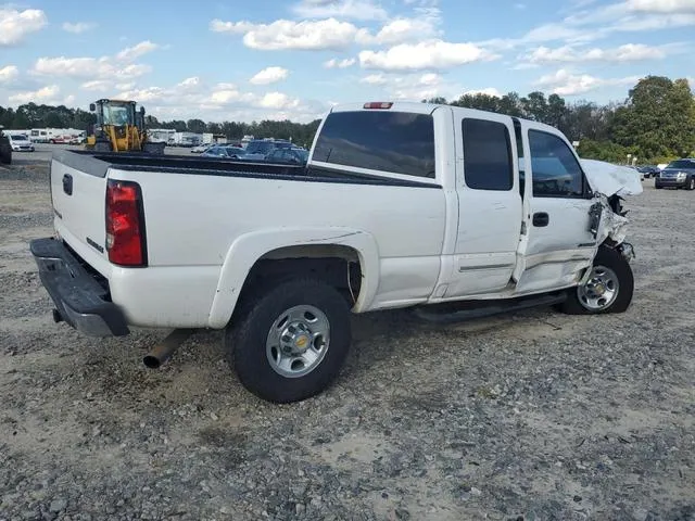
[[[302,22],[276,20],[270,24],[214,20],[210,28],[216,33],[243,34],[244,46],[264,51],[340,50],[350,46],[357,34],[353,24],[332,17]]]

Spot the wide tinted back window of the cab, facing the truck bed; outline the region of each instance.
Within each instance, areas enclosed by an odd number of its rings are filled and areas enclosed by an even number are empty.
[[[314,161],[434,178],[434,122],[429,114],[357,111],[328,115]]]

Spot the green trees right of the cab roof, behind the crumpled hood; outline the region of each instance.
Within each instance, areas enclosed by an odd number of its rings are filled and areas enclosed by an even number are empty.
[[[446,103],[518,116],[553,125],[585,158],[626,163],[666,163],[695,155],[695,98],[686,79],[647,76],[620,103],[598,105],[591,101],[568,103],[558,94],[547,98],[534,91],[521,98],[509,92],[501,98],[484,93],[464,94],[424,102]]]

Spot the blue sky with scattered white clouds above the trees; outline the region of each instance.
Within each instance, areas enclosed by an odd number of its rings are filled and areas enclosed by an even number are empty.
[[[308,122],[334,103],[695,88],[695,0],[0,0],[0,105],[127,98],[160,119]]]

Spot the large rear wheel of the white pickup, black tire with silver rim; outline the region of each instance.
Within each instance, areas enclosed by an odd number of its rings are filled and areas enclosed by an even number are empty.
[[[279,282],[253,294],[258,296],[239,304],[224,336],[225,351],[243,386],[271,403],[300,402],[326,390],[338,377],[352,343],[345,298],[316,279]],[[293,342],[288,340],[292,336]],[[315,343],[323,348],[315,350]],[[279,367],[273,360],[286,364]]]

